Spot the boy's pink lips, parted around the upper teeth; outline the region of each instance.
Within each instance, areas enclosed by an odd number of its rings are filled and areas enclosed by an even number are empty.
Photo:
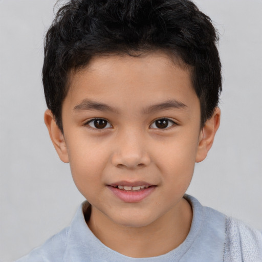
[[[123,190],[119,189],[117,185],[123,185],[123,186],[149,186],[148,188],[144,188],[138,191],[132,191],[132,190]],[[147,198],[152,192],[155,191],[157,186],[150,185],[144,181],[136,181],[136,182],[127,182],[127,181],[119,181],[116,183],[113,183],[111,185],[107,185],[107,188],[111,190],[111,192],[121,201],[126,203],[138,203],[143,201],[145,198]]]

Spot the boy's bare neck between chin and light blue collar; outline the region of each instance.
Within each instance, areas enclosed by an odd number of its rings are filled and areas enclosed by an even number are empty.
[[[192,209],[185,199],[143,227],[122,226],[98,212],[92,207],[90,230],[105,246],[129,257],[153,257],[171,251],[184,242],[192,222]]]

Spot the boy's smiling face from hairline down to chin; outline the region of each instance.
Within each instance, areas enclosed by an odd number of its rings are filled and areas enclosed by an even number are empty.
[[[179,212],[209,149],[200,120],[190,73],[165,54],[96,57],[72,75],[56,149],[92,215],[146,226]]]

